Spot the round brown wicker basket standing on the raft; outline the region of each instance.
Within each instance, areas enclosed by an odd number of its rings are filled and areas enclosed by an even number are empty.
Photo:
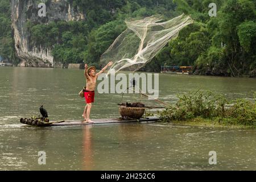
[[[145,107],[126,107],[119,106],[119,113],[122,117],[129,117],[131,119],[139,119],[145,112]]]

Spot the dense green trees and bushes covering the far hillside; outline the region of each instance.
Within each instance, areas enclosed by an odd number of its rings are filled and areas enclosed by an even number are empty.
[[[155,14],[171,19],[189,14],[195,22],[180,31],[142,71],[160,71],[160,65],[193,65],[200,75],[256,76],[256,1],[253,0],[69,0],[85,13],[78,22],[26,22],[30,39],[52,49],[55,61],[100,67],[100,56],[126,26],[126,18]],[[208,7],[216,3],[217,16]],[[12,59],[9,1],[0,2],[0,55]],[[47,35],[45,35],[45,33]]]

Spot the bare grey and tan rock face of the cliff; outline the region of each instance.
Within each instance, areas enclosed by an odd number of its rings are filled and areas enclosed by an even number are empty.
[[[85,14],[75,9],[64,0],[47,0],[46,16],[40,17],[39,3],[36,0],[11,0],[11,19],[15,40],[15,51],[22,67],[59,67],[54,63],[51,47],[35,46],[30,41],[26,28],[27,20],[31,23],[49,23],[55,20],[81,20]]]

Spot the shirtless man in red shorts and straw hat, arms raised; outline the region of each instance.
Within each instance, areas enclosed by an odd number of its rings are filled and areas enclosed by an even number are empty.
[[[96,88],[97,77],[103,73],[108,67],[113,65],[113,61],[110,61],[104,68],[101,69],[100,72],[96,73],[95,67],[89,67],[85,64],[84,66],[84,75],[86,77],[86,89],[84,90],[84,97],[86,101],[86,106],[84,108],[84,113],[82,117],[84,117],[83,122],[93,123],[90,120],[90,109],[92,108],[92,103],[94,102],[94,90]]]

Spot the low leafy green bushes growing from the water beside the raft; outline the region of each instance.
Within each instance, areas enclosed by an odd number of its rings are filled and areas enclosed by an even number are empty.
[[[174,106],[160,112],[164,122],[189,121],[197,117],[217,119],[230,125],[256,126],[256,94],[254,100],[245,98],[228,101],[224,96],[209,91],[197,90],[179,95]]]

